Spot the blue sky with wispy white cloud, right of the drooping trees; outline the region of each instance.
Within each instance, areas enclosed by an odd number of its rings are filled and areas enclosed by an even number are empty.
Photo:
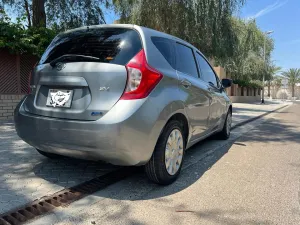
[[[300,0],[247,0],[240,17],[255,18],[261,30],[274,31],[277,66],[300,68]]]

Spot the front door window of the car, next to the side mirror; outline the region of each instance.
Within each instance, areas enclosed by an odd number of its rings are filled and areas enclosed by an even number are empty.
[[[196,53],[196,58],[201,71],[200,78],[207,83],[212,83],[215,87],[218,87],[216,75],[206,60],[199,54]]]

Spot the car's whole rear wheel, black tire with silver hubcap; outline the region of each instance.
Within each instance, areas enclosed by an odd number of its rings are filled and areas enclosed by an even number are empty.
[[[170,121],[164,128],[145,166],[146,174],[153,182],[167,185],[179,176],[186,144],[183,130],[179,121]]]

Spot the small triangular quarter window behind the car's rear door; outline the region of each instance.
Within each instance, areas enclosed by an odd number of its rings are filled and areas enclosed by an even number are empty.
[[[168,63],[174,69],[176,69],[175,49],[173,41],[162,37],[152,37],[151,40],[158,51],[160,51],[163,57],[168,61]]]

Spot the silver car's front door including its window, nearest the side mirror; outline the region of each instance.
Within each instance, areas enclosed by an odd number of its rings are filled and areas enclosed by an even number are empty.
[[[196,58],[200,69],[200,79],[206,83],[211,95],[208,127],[210,131],[213,131],[219,127],[221,118],[226,113],[226,101],[221,83],[213,68],[199,52],[196,53]]]

